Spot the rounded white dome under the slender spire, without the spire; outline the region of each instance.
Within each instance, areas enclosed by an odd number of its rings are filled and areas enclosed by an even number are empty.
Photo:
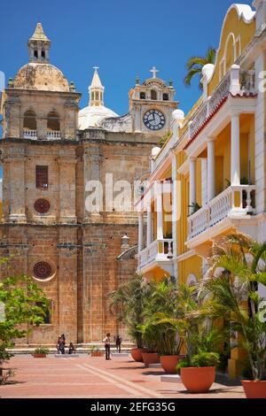
[[[79,129],[99,127],[100,122],[109,117],[119,117],[119,115],[104,105],[88,105],[79,112]]]

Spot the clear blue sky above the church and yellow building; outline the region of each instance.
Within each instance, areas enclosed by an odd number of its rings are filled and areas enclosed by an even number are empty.
[[[27,39],[41,20],[51,39],[51,63],[88,102],[92,66],[106,87],[106,106],[128,111],[136,75],[148,78],[156,65],[165,81],[174,80],[176,99],[187,112],[199,96],[198,81],[184,87],[185,62],[218,46],[231,0],[18,0],[1,5],[0,71],[13,77],[27,63]],[[251,1],[246,3],[251,4]]]

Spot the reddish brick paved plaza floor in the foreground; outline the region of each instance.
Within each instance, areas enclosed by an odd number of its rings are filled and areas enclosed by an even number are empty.
[[[0,386],[2,398],[243,398],[240,386],[215,383],[207,395],[190,395],[183,384],[161,383],[160,369],[147,369],[129,358],[12,358],[16,369],[10,384]]]

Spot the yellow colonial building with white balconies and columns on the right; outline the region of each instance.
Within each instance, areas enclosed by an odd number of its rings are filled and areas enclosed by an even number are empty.
[[[136,204],[138,272],[200,281],[212,244],[232,230],[266,240],[266,1],[232,4],[203,93],[154,148]],[[266,293],[261,295],[266,297]],[[230,373],[238,374],[238,351]]]

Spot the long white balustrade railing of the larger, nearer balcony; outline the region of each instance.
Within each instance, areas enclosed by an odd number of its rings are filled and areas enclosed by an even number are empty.
[[[254,185],[231,186],[188,218],[189,240],[230,216],[254,213]]]

